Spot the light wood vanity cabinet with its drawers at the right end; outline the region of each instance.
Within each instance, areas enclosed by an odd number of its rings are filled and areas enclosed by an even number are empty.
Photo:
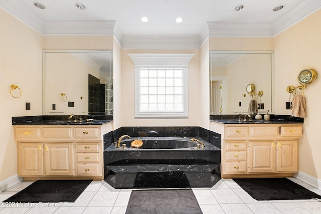
[[[34,179],[103,179],[103,136],[112,122],[14,125],[18,175]]]

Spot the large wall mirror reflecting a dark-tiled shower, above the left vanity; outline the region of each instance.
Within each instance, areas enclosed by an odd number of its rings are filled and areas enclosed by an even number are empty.
[[[112,89],[112,51],[43,51],[43,115],[113,115]]]

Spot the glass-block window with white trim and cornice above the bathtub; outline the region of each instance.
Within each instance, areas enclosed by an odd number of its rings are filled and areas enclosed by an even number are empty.
[[[188,63],[194,54],[129,54],[135,64],[135,117],[188,116]]]

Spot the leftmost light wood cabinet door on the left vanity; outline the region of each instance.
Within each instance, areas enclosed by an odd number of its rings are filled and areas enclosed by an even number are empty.
[[[19,176],[43,175],[43,143],[18,143]]]

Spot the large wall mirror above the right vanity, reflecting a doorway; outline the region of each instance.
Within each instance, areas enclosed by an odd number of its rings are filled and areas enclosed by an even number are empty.
[[[210,51],[210,115],[274,112],[271,51]],[[248,93],[248,85],[255,91]],[[258,109],[250,109],[255,100]],[[253,106],[252,106],[253,109]]]

